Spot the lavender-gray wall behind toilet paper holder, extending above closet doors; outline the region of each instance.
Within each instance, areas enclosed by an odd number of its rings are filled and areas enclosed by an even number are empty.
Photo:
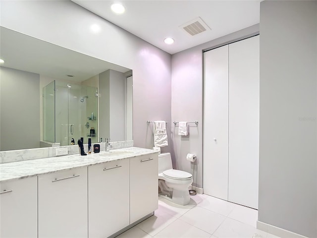
[[[186,160],[187,153],[197,156],[194,184],[203,187],[203,50],[245,38],[259,32],[259,24],[217,38],[205,44],[172,55],[172,121],[195,121],[189,124],[189,135],[178,135],[178,125],[172,124],[173,166],[193,172]],[[186,82],[186,83],[184,83]]]

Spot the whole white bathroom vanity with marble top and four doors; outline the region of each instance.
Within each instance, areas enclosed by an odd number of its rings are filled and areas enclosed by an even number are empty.
[[[158,153],[129,147],[0,164],[0,237],[114,237],[158,208]]]

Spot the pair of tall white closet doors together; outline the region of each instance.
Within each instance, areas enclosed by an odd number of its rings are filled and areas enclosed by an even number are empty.
[[[258,209],[259,187],[259,38],[259,35],[255,35],[203,54],[204,193],[255,209]],[[248,47],[248,44],[250,44],[250,47]],[[236,48],[239,48],[240,45],[245,48],[242,47],[242,49],[237,50]],[[228,51],[226,53],[222,52],[223,56],[216,59],[216,52],[224,49],[224,47],[227,47]],[[232,53],[243,53],[241,58],[234,55],[230,58],[230,49]],[[224,55],[227,56],[228,60],[226,69],[223,69],[225,67],[225,63],[222,62]],[[210,59],[212,57],[213,60]],[[222,65],[219,66],[221,63]],[[230,70],[232,66],[233,68]],[[211,72],[211,67],[217,70]],[[218,72],[221,69],[227,72],[227,78]],[[222,74],[224,73],[222,72]],[[223,90],[223,87],[217,88],[215,82],[210,82],[214,75],[219,77],[217,80],[221,78],[223,82],[227,82],[227,90]],[[222,104],[224,96],[221,101],[223,111],[227,110],[226,119],[223,118],[224,114],[220,113],[221,110],[214,110],[217,107],[215,104],[220,99],[220,97],[217,98],[217,91],[227,96],[227,105]],[[215,95],[211,95],[214,93]],[[222,119],[220,122],[212,118],[219,117],[219,115]],[[225,125],[225,123],[227,124]],[[217,129],[219,130],[219,128],[225,126],[227,127],[226,130],[220,129],[222,130],[221,135],[216,133]],[[225,135],[227,136],[226,139],[221,138]],[[227,155],[226,158],[224,158],[224,154]]]

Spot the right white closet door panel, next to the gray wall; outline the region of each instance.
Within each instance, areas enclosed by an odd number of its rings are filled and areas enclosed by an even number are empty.
[[[229,45],[228,200],[258,209],[259,36]]]

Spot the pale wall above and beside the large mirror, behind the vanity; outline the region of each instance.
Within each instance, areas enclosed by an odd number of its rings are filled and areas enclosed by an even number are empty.
[[[3,27],[133,69],[133,141],[152,148],[153,125],[147,120],[171,121],[169,54],[72,1],[0,1],[0,6]],[[91,32],[92,24],[101,32]]]

